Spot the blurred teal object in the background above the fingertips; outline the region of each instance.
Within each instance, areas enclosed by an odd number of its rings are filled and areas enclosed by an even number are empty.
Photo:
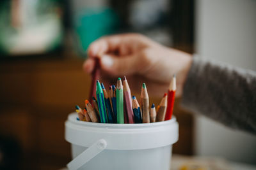
[[[79,53],[84,56],[90,43],[101,36],[115,33],[118,26],[118,15],[111,8],[84,9],[74,19]]]

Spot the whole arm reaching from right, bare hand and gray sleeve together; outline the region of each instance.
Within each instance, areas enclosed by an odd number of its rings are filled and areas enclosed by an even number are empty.
[[[97,57],[106,81],[126,75],[133,92],[139,92],[145,82],[150,96],[163,96],[176,73],[175,95],[183,96],[185,108],[229,127],[256,132],[256,73],[252,71],[196,58],[192,62],[190,54],[140,34],[100,38],[90,45],[88,56],[84,62],[87,73],[92,73]]]

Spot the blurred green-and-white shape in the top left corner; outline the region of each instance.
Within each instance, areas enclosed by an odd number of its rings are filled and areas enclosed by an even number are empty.
[[[52,52],[63,41],[61,0],[0,2],[0,53],[31,55]]]

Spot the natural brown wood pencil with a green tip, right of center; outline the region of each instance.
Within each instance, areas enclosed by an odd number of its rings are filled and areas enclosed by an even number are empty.
[[[148,99],[148,92],[147,92],[147,87],[145,83],[143,83],[142,85],[140,97],[141,97],[142,122],[150,123],[149,110],[148,110],[149,99]]]

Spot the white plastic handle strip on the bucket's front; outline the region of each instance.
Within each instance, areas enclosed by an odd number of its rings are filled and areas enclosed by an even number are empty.
[[[76,158],[71,160],[67,167],[70,170],[79,169],[79,167],[86,164],[89,160],[93,159],[96,155],[98,155],[100,152],[102,152],[107,146],[107,142],[105,139],[99,139],[99,141],[96,141],[93,143],[89,148],[84,150],[80,155],[78,155]]]

